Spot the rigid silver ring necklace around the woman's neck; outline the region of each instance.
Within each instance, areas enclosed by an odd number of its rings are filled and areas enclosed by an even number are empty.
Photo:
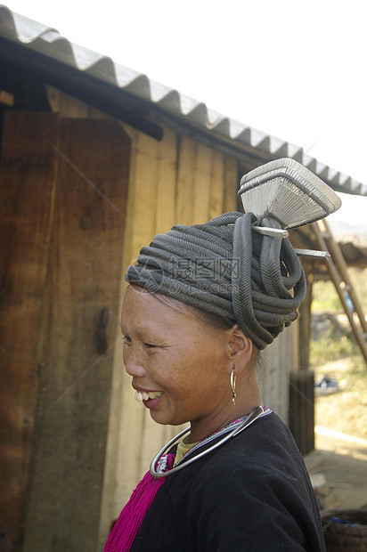
[[[259,416],[261,416],[261,414],[263,414],[263,412],[264,412],[264,409],[263,409],[262,406],[255,407],[254,410],[251,410],[251,412],[249,413],[249,416],[247,416],[241,422],[241,424],[239,426],[235,426],[235,428],[232,429],[231,432],[225,434],[224,437],[222,437],[222,439],[220,441],[216,442],[215,444],[212,444],[211,447],[209,447],[206,451],[200,452],[199,454],[194,456],[192,459],[188,459],[185,462],[183,462],[182,464],[177,464],[177,466],[172,467],[167,472],[164,471],[164,469],[166,468],[166,464],[167,464],[167,460],[164,457],[163,459],[161,459],[161,461],[159,461],[158,467],[156,469],[155,466],[156,466],[158,460],[160,459],[160,457],[163,455],[163,453],[165,451],[167,451],[169,449],[169,447],[171,447],[176,441],[179,441],[179,439],[184,434],[189,433],[190,427],[187,427],[186,429],[184,429],[184,431],[182,431],[181,433],[176,435],[173,439],[168,441],[167,444],[165,444],[164,447],[162,447],[162,449],[160,449],[160,451],[151,460],[151,467],[150,467],[151,475],[153,477],[159,478],[159,477],[167,477],[168,475],[175,474],[180,469],[183,469],[184,467],[189,466],[190,464],[192,464],[192,462],[195,462],[196,460],[198,460],[201,457],[205,456],[209,452],[214,451],[217,447],[221,446],[224,442],[231,439],[231,437],[234,437],[235,435],[241,433],[241,431],[243,431],[243,429],[245,429],[246,427],[249,427],[253,422],[255,422],[255,420]]]

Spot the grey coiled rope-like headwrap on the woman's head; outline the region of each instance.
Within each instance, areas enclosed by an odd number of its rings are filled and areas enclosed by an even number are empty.
[[[225,213],[205,224],[176,224],[142,248],[126,281],[238,323],[258,349],[297,318],[306,278],[288,239],[252,225],[280,228],[273,218]]]

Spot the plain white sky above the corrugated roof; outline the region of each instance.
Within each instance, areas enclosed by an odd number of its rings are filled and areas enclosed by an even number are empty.
[[[9,0],[13,12],[367,184],[364,0]],[[342,195],[334,218],[366,220]]]

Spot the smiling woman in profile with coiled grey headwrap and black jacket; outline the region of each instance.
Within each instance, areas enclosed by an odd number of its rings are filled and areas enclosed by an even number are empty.
[[[121,329],[135,398],[190,433],[153,459],[106,551],[325,549],[306,467],[257,384],[260,351],[306,291],[279,229],[251,213],[178,225],[128,268]]]

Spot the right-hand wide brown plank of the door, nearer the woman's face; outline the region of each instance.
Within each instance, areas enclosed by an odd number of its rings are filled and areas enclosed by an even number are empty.
[[[60,130],[24,552],[97,547],[118,324],[129,140],[108,120]]]

